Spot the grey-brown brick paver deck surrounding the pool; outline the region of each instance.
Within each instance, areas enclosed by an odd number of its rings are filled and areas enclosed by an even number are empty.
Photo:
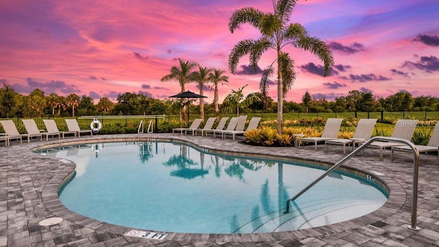
[[[188,141],[216,152],[276,155],[324,163],[336,163],[344,157],[341,147],[331,147],[329,152],[324,152],[322,147],[318,151],[311,147],[264,148],[229,139],[178,134],[150,134],[150,138]],[[383,174],[376,177],[390,188],[390,197],[383,207],[357,219],[281,233],[169,233],[163,240],[125,237],[123,233],[130,228],[91,220],[60,203],[58,187],[75,169],[73,163],[31,152],[40,145],[104,139],[127,141],[137,139],[137,134],[52,139],[29,144],[12,142],[11,146],[0,148],[0,246],[439,246],[438,156],[420,156],[417,213],[420,231],[412,231],[407,228],[412,209],[412,154],[398,152],[391,161],[389,151],[380,159],[378,151],[373,149],[355,156],[346,166]],[[38,224],[49,217],[64,220],[53,226]]]

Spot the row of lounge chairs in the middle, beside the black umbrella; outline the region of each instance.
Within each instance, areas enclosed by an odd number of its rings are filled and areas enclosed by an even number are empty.
[[[224,127],[226,126],[228,117],[223,117],[222,119],[220,119],[216,128],[213,128],[213,124],[215,124],[215,117],[209,117],[203,128],[200,128],[202,119],[194,119],[189,128],[174,128],[172,129],[172,134],[180,132],[180,135],[182,135],[184,132],[185,135],[187,135],[188,132],[192,132],[192,135],[197,135],[198,132],[200,132],[201,136],[204,136],[205,134],[207,137],[209,133],[212,133],[213,138],[216,138],[217,134],[219,134],[222,139],[226,139],[227,135],[231,135],[232,139],[235,140],[235,137],[237,135],[244,134],[248,130],[254,130],[255,128],[257,128],[259,125],[259,121],[261,121],[261,117],[252,117],[246,128],[246,119],[246,115],[232,117],[228,122],[228,126],[226,127],[226,129],[224,129]],[[246,128],[246,130],[244,130],[244,128]]]

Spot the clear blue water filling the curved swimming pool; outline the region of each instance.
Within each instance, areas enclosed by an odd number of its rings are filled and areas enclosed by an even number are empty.
[[[381,207],[372,181],[335,172],[284,214],[286,200],[325,169],[305,163],[209,154],[181,143],[95,143],[39,151],[76,163],[60,191],[65,207],[150,231],[267,233],[351,220]]]

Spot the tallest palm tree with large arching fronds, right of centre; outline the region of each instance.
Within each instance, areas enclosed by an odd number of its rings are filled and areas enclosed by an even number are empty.
[[[228,68],[236,72],[239,58],[250,55],[250,64],[256,69],[257,62],[265,51],[274,49],[277,53],[276,60],[263,72],[259,88],[263,95],[268,93],[268,78],[274,74],[273,64],[277,62],[277,130],[282,132],[283,98],[291,88],[296,73],[294,60],[283,51],[286,45],[310,51],[324,63],[324,76],[334,64],[334,59],[329,47],[324,41],[308,35],[305,27],[299,23],[289,23],[297,0],[273,0],[273,13],[264,13],[252,7],[241,8],[233,12],[228,27],[231,33],[243,23],[249,23],[261,33],[261,38],[245,39],[239,41],[228,57]]]

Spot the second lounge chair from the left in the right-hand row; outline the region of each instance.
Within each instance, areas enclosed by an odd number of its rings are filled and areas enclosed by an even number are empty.
[[[329,145],[343,145],[343,154],[346,154],[346,145],[352,145],[352,150],[354,150],[356,144],[364,143],[370,139],[376,122],[377,119],[359,119],[353,138],[324,141],[325,152],[328,152]]]

